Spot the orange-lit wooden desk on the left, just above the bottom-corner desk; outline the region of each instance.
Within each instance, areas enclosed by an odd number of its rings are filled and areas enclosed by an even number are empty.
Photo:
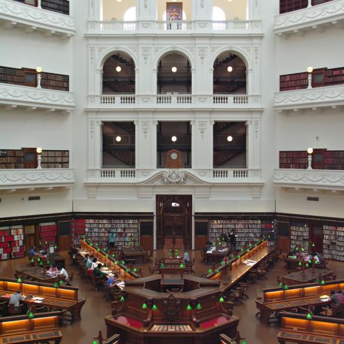
[[[20,290],[21,294],[27,296],[24,303],[28,305],[46,306],[54,310],[67,310],[70,313],[70,321],[81,319],[81,308],[85,304],[85,299],[78,299],[78,288],[60,286],[54,288],[51,284],[39,282],[18,283],[16,279],[0,278],[0,299],[8,300],[8,295]],[[42,297],[41,303],[35,303],[30,295]]]

